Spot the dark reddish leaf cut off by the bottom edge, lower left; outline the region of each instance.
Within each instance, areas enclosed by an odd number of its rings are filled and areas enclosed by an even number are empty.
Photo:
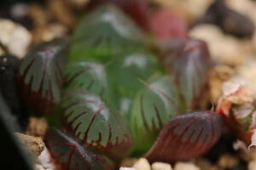
[[[94,148],[71,134],[50,129],[46,142],[55,164],[63,170],[113,170],[113,165]]]

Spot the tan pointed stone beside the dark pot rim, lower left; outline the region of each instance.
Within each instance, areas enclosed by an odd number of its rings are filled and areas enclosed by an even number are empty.
[[[38,137],[29,136],[23,133],[15,133],[16,137],[20,139],[20,142],[24,144],[27,150],[29,150],[35,156],[40,156],[44,150],[45,144],[42,139]]]

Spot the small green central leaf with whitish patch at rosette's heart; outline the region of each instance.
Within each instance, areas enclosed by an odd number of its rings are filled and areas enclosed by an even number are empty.
[[[159,63],[149,52],[137,51],[113,59],[107,65],[108,80],[119,99],[119,111],[129,116],[131,101],[143,83],[158,72]]]

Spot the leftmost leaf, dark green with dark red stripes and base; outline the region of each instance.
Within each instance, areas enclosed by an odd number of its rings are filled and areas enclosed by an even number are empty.
[[[21,62],[21,94],[34,114],[49,114],[61,100],[67,43],[67,40],[63,39],[44,42],[27,54]]]

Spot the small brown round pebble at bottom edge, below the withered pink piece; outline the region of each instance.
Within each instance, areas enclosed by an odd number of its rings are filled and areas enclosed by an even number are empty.
[[[239,160],[236,156],[231,156],[230,154],[224,154],[218,160],[218,167],[222,168],[232,168],[239,164]]]

